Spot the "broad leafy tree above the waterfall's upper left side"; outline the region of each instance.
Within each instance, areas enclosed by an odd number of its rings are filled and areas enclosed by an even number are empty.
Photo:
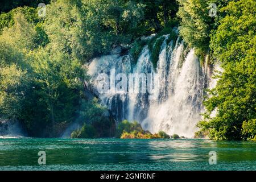
[[[85,62],[131,43],[142,18],[143,5],[130,1],[59,0],[47,6],[46,30],[51,48]]]

